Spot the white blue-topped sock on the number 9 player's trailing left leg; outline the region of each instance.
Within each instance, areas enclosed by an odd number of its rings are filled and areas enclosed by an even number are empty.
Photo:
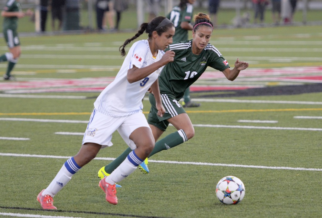
[[[64,163],[55,178],[42,194],[54,197],[71,180],[71,176],[80,169],[81,167],[77,165],[74,157],[71,157]]]

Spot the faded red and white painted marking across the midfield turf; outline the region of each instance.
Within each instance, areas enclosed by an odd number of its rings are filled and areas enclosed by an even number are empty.
[[[247,68],[242,71],[237,80],[243,81],[289,81],[289,82],[322,82],[322,66],[316,67],[284,67],[284,68]],[[44,92],[101,92],[114,80],[114,77],[82,78],[82,79],[43,79],[30,81],[14,81],[0,83],[0,91],[5,93],[44,93]],[[204,72],[202,80],[227,80],[220,71]],[[244,90],[260,88],[260,85],[197,85],[191,86],[191,91]]]

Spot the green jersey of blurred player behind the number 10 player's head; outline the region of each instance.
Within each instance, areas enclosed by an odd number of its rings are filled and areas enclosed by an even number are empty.
[[[191,22],[193,15],[192,4],[187,3],[186,7],[181,10],[179,6],[175,6],[172,11],[166,16],[175,25],[175,35],[173,41],[184,41],[188,39],[188,30],[182,29],[180,24],[182,22]]]

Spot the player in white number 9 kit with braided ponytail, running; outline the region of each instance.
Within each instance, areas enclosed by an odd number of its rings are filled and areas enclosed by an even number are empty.
[[[163,66],[174,61],[175,53],[164,50],[173,42],[175,27],[162,16],[149,23],[142,23],[135,36],[120,46],[122,56],[126,54],[125,47],[144,32],[148,34],[148,39],[131,46],[115,80],[94,102],[81,149],[63,164],[49,186],[38,194],[37,200],[43,209],[57,209],[52,198],[71,180],[73,174],[96,157],[102,147],[113,145],[112,134],[116,130],[132,152],[109,176],[99,182],[109,203],[118,204],[116,183],[134,172],[153,150],[155,140],[142,112],[142,99],[151,88],[156,94],[158,115],[165,113],[157,79]]]

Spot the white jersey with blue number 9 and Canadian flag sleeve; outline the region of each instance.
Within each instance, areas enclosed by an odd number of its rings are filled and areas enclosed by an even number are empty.
[[[153,57],[146,39],[135,42],[128,51],[115,80],[100,93],[94,102],[94,107],[100,113],[109,116],[126,116],[140,112],[145,93],[157,80],[163,67],[145,79],[133,83],[127,80],[128,70],[133,68],[133,65],[137,68],[146,67],[159,61],[163,55],[164,51],[159,50],[157,56]]]

